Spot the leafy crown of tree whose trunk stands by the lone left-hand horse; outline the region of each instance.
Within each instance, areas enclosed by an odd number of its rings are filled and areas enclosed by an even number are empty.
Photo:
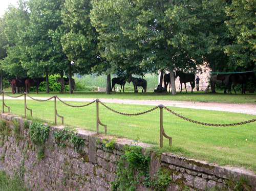
[[[61,44],[63,52],[72,61],[67,65],[70,78],[74,73],[92,73],[92,67],[100,61],[98,34],[89,17],[91,9],[88,0],[66,0],[61,12],[63,28],[66,29],[61,36]]]

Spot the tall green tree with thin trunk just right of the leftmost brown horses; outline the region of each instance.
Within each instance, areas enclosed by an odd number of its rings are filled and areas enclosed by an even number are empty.
[[[61,9],[64,0],[30,0],[29,25],[19,44],[23,50],[22,64],[30,77],[46,75],[46,90],[49,92],[48,75],[56,71],[52,57],[56,50],[50,31],[62,25]]]

